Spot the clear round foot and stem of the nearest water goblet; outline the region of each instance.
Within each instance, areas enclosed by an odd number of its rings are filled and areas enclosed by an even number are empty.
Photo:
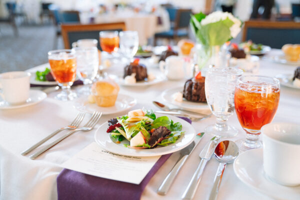
[[[238,133],[238,130],[233,126],[228,125],[226,120],[216,118],[216,123],[208,125],[204,129],[204,132],[212,136],[233,137]]]

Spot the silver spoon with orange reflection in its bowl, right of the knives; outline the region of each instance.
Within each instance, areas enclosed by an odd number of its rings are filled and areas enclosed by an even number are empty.
[[[227,163],[232,163],[238,155],[238,147],[233,141],[224,140],[219,142],[214,149],[214,156],[220,162],[214,177],[209,200],[216,199],[217,192],[222,180],[222,175]]]

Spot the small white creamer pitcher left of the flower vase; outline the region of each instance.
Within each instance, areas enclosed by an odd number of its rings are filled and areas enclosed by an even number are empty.
[[[176,55],[168,56],[165,61],[159,62],[159,68],[170,80],[182,79],[184,77],[184,60]]]

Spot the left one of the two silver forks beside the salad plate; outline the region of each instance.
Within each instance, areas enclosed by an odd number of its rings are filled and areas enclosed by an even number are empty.
[[[48,139],[50,139],[52,136],[54,136],[55,134],[57,134],[58,132],[62,131],[62,130],[72,130],[78,127],[78,125],[80,124],[80,122],[82,121],[83,117],[85,115],[85,112],[79,112],[76,117],[74,118],[74,120],[67,126],[65,127],[61,127],[58,128],[57,130],[55,130],[54,132],[52,132],[51,134],[49,134],[48,136],[46,136],[45,138],[41,139],[40,141],[38,141],[37,143],[35,143],[34,145],[32,145],[31,147],[27,148],[26,150],[24,150],[23,152],[21,152],[22,155],[26,155],[29,152],[31,152],[33,149],[35,149],[37,146],[39,146],[40,144],[44,143],[45,141],[47,141]]]

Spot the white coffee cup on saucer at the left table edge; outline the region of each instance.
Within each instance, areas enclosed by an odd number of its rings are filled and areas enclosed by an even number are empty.
[[[0,74],[0,95],[9,104],[21,104],[29,98],[30,73],[9,71]]]

